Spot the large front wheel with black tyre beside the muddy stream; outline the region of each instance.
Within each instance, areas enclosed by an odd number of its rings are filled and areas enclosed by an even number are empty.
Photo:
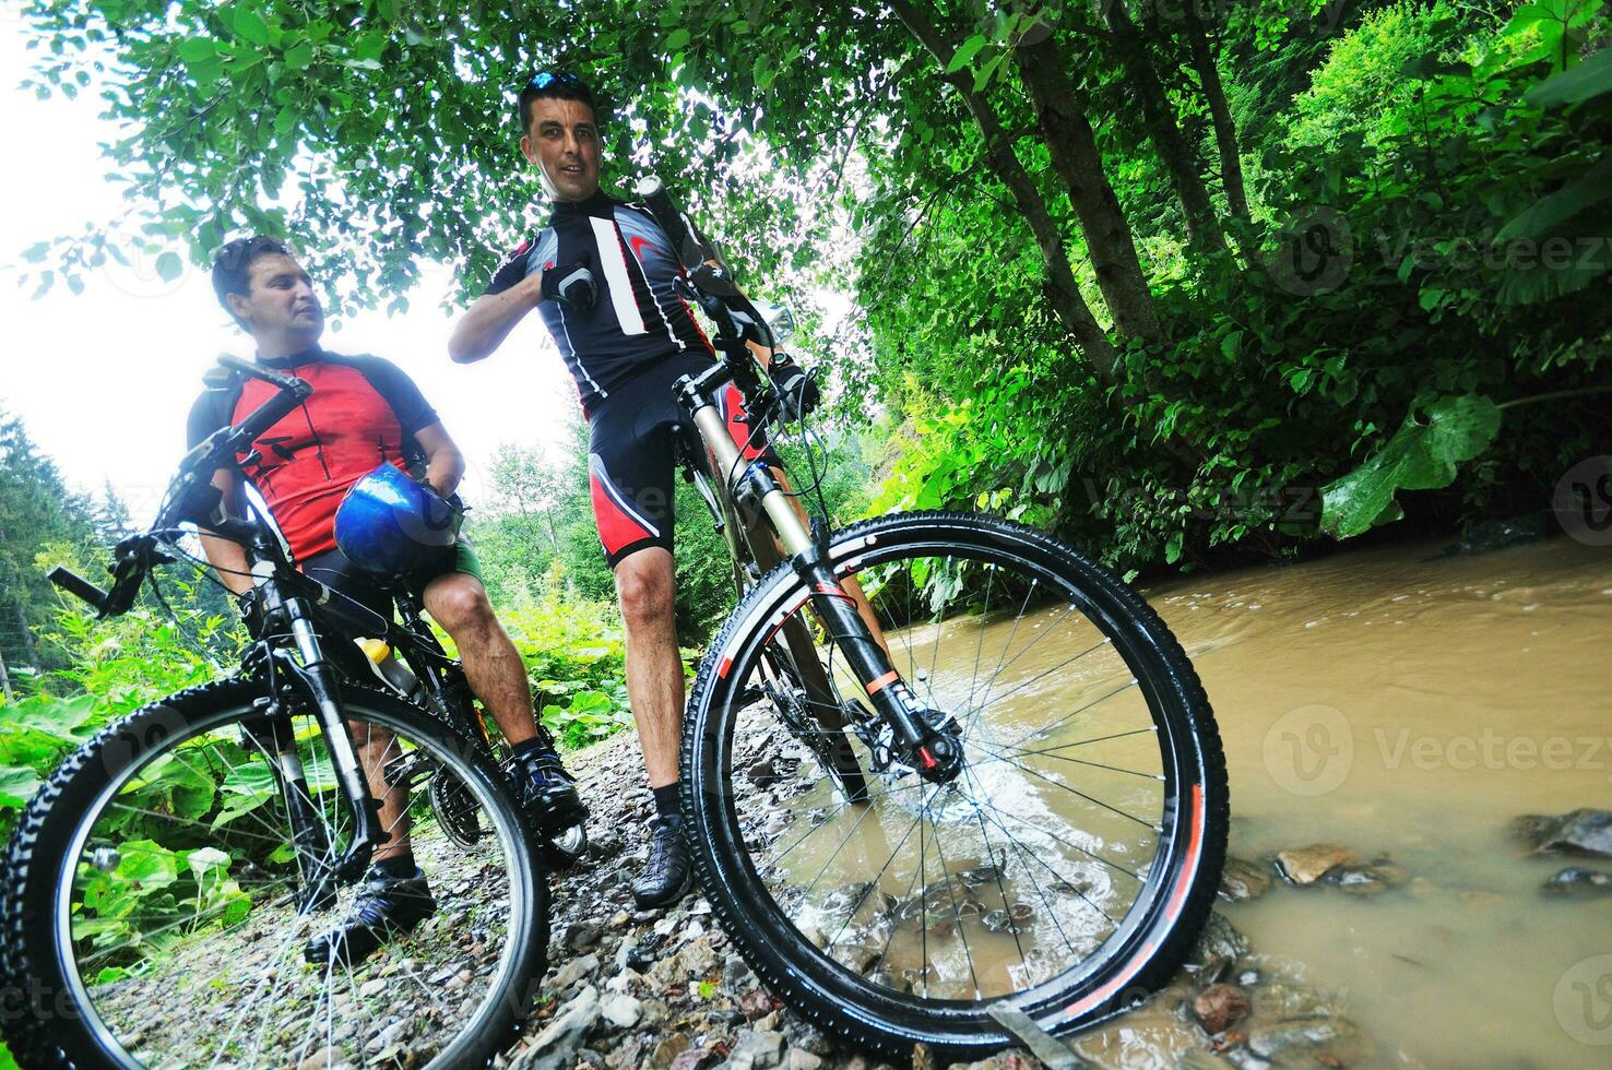
[[[924,782],[864,699],[846,736],[870,801],[833,793],[769,703],[742,704],[767,638],[811,616],[793,574],[764,580],[713,646],[685,738],[706,891],[730,931],[882,1047],[999,1046],[996,1001],[1053,1031],[1122,1009],[1174,965],[1224,851],[1219,741],[1180,648],[1124,585],[1017,525],[891,517],[833,556],[967,764]],[[816,635],[840,695],[866,696]]]

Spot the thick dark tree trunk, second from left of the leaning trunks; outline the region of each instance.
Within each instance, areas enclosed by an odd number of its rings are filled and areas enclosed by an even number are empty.
[[[1153,342],[1159,337],[1153,290],[1141,272],[1130,224],[1103,171],[1096,134],[1085,110],[1075,102],[1064,56],[1049,34],[1033,45],[1020,45],[1014,58],[1041,124],[1041,137],[1051,150],[1053,168],[1064,180],[1069,201],[1080,218],[1098,287],[1114,314],[1114,326],[1120,334]]]

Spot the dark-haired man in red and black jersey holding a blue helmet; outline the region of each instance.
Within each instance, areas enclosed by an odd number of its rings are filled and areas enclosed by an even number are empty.
[[[337,506],[355,483],[385,462],[416,475],[430,495],[448,500],[464,474],[464,458],[401,369],[377,356],[340,356],[319,346],[324,311],[308,272],[284,243],[266,237],[231,242],[213,263],[213,288],[224,311],[251,335],[261,364],[298,375],[314,388],[235,466],[219,469],[213,482],[224,493],[224,509],[239,516],[242,488],[250,483],[303,572],[390,619],[392,596],[337,548]],[[190,411],[190,446],[239,422],[272,392],[272,385],[256,379],[213,384]],[[430,496],[427,501],[443,504]],[[245,551],[206,533],[202,546],[219,579],[240,598],[248,627],[255,627]],[[434,553],[403,582],[453,637],[471,688],[526,772],[524,801],[534,823],[558,833],[580,822],[587,811],[532,714],[526,666],[493,616],[471,545],[461,538],[456,546]],[[305,949],[313,962],[356,962],[435,910],[409,846],[406,794],[392,790],[380,769],[390,744],[380,735],[369,732],[356,743],[371,791],[382,802],[382,827],[393,838],[376,849],[345,922]]]

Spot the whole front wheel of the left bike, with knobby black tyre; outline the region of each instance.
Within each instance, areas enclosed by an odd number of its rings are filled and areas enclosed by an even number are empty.
[[[511,1039],[548,909],[501,773],[424,711],[348,688],[392,846],[424,878],[308,894],[351,820],[314,719],[266,717],[261,693],[229,680],[131,714],[23,814],[0,901],[6,983],[32,993],[5,1022],[23,1065],[459,1067]],[[487,830],[467,849],[432,812],[437,778]],[[377,888],[392,888],[380,915]],[[377,917],[369,946],[330,952]]]

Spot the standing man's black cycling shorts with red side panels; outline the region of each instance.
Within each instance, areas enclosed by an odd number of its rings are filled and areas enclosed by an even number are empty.
[[[600,400],[588,414],[588,483],[604,559],[614,569],[648,546],[672,550],[672,482],[677,453],[672,427],[683,422],[672,385],[711,367],[711,358],[679,353],[650,366]],[[746,461],[777,467],[762,429],[745,422],[745,395],[733,384],[717,392],[717,409]],[[688,429],[693,435],[693,429]],[[695,437],[696,440],[696,437]]]

